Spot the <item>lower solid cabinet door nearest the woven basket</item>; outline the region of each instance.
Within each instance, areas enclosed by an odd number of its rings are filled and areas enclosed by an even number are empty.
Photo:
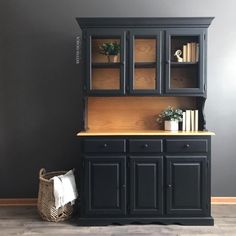
[[[126,214],[125,156],[85,157],[87,215]]]

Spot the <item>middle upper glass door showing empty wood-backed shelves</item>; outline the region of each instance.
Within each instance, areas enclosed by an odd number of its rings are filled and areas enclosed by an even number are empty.
[[[161,93],[161,48],[160,30],[132,30],[129,43],[131,94]]]

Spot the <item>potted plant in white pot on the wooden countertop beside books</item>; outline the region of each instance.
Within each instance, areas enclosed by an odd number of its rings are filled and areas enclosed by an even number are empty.
[[[160,124],[164,123],[165,130],[178,131],[179,121],[182,121],[182,118],[183,111],[181,109],[174,109],[169,106],[159,114],[157,122]]]

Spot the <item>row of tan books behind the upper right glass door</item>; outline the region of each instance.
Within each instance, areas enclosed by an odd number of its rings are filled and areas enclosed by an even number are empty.
[[[183,45],[183,62],[198,62],[199,43],[187,43]]]

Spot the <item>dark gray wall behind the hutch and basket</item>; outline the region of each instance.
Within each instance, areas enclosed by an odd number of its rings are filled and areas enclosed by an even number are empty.
[[[234,0],[1,0],[0,197],[35,197],[40,167],[78,165],[81,81],[76,16],[215,16],[209,29],[207,124],[212,194],[236,196]]]

